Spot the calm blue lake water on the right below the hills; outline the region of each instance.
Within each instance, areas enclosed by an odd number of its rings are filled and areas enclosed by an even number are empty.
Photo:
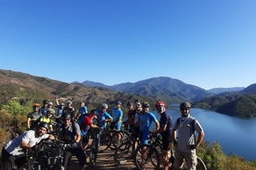
[[[167,112],[173,121],[180,116],[177,105],[171,105]],[[256,118],[243,119],[198,108],[192,108],[190,115],[204,128],[205,141],[217,141],[225,154],[256,161]]]

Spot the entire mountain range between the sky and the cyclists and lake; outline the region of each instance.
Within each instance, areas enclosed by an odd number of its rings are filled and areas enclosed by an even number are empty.
[[[211,109],[223,114],[256,116],[256,84],[247,88],[206,91],[179,79],[158,77],[107,86],[88,80],[82,83],[77,81],[66,83],[0,69],[0,89],[0,103],[9,99],[41,102],[44,99],[55,100],[57,96],[70,99],[74,103],[83,101],[89,106],[96,106],[98,103],[113,104],[117,100],[128,103],[135,99],[154,104],[161,99],[165,103],[190,101],[195,107]]]

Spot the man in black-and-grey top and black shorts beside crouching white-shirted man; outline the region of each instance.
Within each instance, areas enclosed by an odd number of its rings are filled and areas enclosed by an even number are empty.
[[[61,125],[61,132],[59,139],[65,143],[63,169],[67,169],[67,165],[71,155],[75,155],[81,164],[82,168],[85,164],[86,155],[82,149],[81,130],[76,122],[71,122],[71,115],[65,114],[62,116],[63,124]]]

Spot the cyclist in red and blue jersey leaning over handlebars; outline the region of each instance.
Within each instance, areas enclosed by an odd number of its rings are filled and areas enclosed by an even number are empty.
[[[87,147],[91,130],[93,128],[99,128],[94,125],[94,119],[96,119],[96,109],[91,110],[90,114],[85,116],[83,121],[78,122],[83,137],[83,150]]]

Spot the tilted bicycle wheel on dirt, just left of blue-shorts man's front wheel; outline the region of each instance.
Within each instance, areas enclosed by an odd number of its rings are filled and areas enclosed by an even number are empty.
[[[122,143],[122,145],[117,148],[114,154],[114,160],[121,164],[123,161],[130,159],[133,155],[132,147],[133,146],[130,141]]]

